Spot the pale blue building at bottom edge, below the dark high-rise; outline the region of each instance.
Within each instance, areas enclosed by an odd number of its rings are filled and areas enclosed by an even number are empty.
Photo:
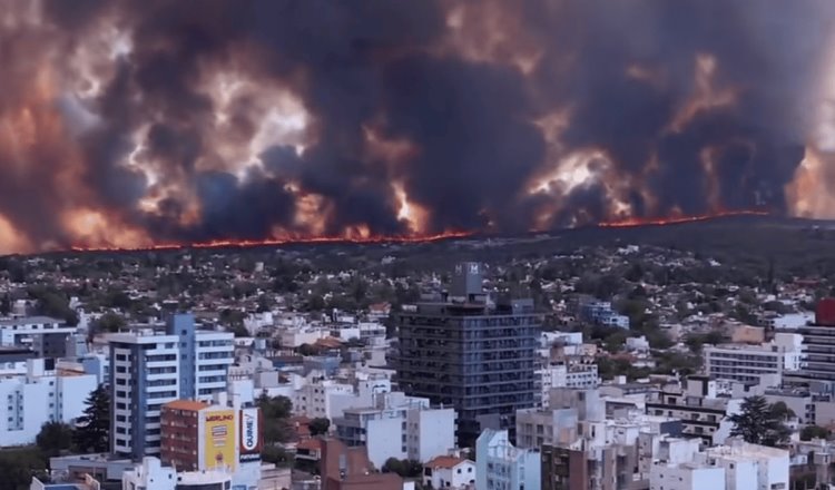
[[[487,429],[475,441],[475,490],[537,489],[541,473],[539,451],[517,449],[507,430]]]

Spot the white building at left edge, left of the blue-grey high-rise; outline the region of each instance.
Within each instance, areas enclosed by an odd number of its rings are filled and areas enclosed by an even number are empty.
[[[26,374],[0,378],[0,445],[32,444],[45,423],[72,423],[84,413],[96,375],[65,374],[50,363],[30,359]]]

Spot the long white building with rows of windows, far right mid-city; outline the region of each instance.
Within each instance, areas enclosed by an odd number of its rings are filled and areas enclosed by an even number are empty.
[[[725,344],[704,349],[705,369],[717,379],[759,382],[764,374],[796,372],[800,369],[803,337],[778,332],[762,345]]]

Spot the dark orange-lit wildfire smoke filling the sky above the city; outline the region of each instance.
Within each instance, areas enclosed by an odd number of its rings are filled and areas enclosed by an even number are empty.
[[[0,0],[0,252],[835,217],[835,2]]]

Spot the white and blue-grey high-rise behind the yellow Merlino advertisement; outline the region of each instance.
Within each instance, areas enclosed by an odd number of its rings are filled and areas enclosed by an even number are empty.
[[[235,349],[232,333],[196,331],[190,314],[170,317],[165,332],[112,334],[109,345],[110,447],[135,459],[159,454],[163,405],[226,389]]]

